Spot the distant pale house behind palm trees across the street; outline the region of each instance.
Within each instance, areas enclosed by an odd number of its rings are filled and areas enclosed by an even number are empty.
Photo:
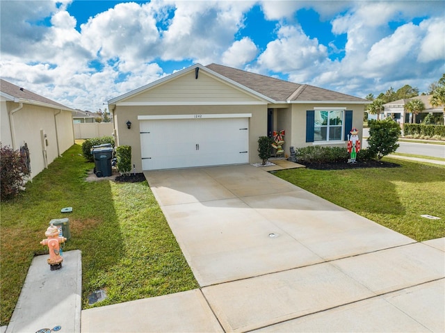
[[[405,112],[405,104],[407,101],[410,101],[411,99],[420,99],[423,102],[423,105],[425,106],[425,110],[423,110],[421,113],[423,115],[426,115],[428,113],[431,113],[435,117],[437,116],[444,116],[444,107],[443,106],[432,106],[430,104],[430,99],[432,95],[421,95],[416,96],[412,98],[405,98],[405,99],[398,99],[397,101],[391,101],[387,104],[383,104],[385,107],[385,111],[383,111],[385,117],[392,117],[396,122],[399,122],[400,124],[409,124],[412,121],[412,113]],[[420,123],[421,120],[423,120],[422,115],[416,116],[416,123]]]

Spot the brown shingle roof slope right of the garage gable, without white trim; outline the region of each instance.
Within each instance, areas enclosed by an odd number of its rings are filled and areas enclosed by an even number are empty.
[[[341,92],[275,79],[215,63],[206,67],[275,101],[366,101]]]

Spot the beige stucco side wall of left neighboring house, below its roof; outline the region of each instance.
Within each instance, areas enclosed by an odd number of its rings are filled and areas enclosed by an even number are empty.
[[[3,140],[5,142],[10,140],[11,147],[13,147],[12,135],[10,131],[3,133],[3,119],[9,120],[8,111],[12,111],[18,106],[18,103],[10,101],[1,104],[1,140],[2,143]],[[27,143],[31,158],[32,177],[54,161],[58,154],[62,154],[74,144],[72,113],[71,111],[59,113],[59,111],[44,106],[23,104],[22,109],[12,116],[15,137],[15,147],[13,148],[19,149],[24,143]],[[41,131],[47,135],[46,141],[42,140]]]

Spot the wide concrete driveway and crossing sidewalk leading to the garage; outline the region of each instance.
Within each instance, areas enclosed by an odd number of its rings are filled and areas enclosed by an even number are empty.
[[[251,165],[145,177],[201,288],[83,311],[83,332],[445,330],[444,238],[416,243]]]

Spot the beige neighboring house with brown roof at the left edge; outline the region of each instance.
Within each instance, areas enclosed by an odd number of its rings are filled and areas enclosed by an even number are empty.
[[[0,79],[1,144],[29,149],[31,177],[74,145],[72,109]]]

